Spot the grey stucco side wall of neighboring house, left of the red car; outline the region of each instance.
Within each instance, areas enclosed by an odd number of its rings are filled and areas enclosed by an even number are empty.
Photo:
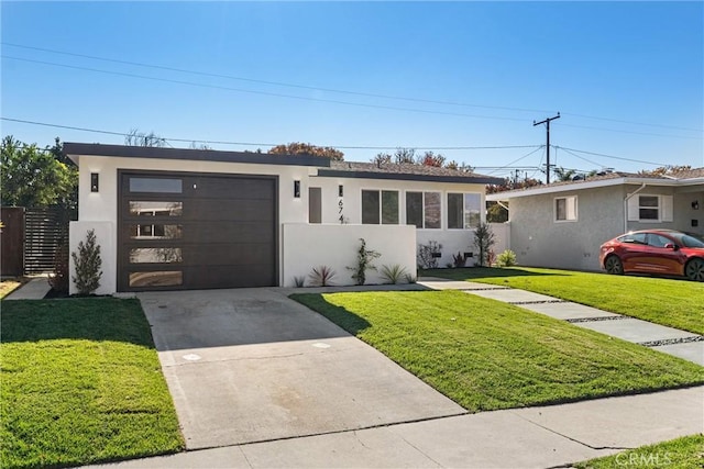
[[[578,220],[554,221],[554,198],[578,197]],[[620,188],[510,200],[510,246],[522,266],[598,270],[598,247],[623,233]]]

